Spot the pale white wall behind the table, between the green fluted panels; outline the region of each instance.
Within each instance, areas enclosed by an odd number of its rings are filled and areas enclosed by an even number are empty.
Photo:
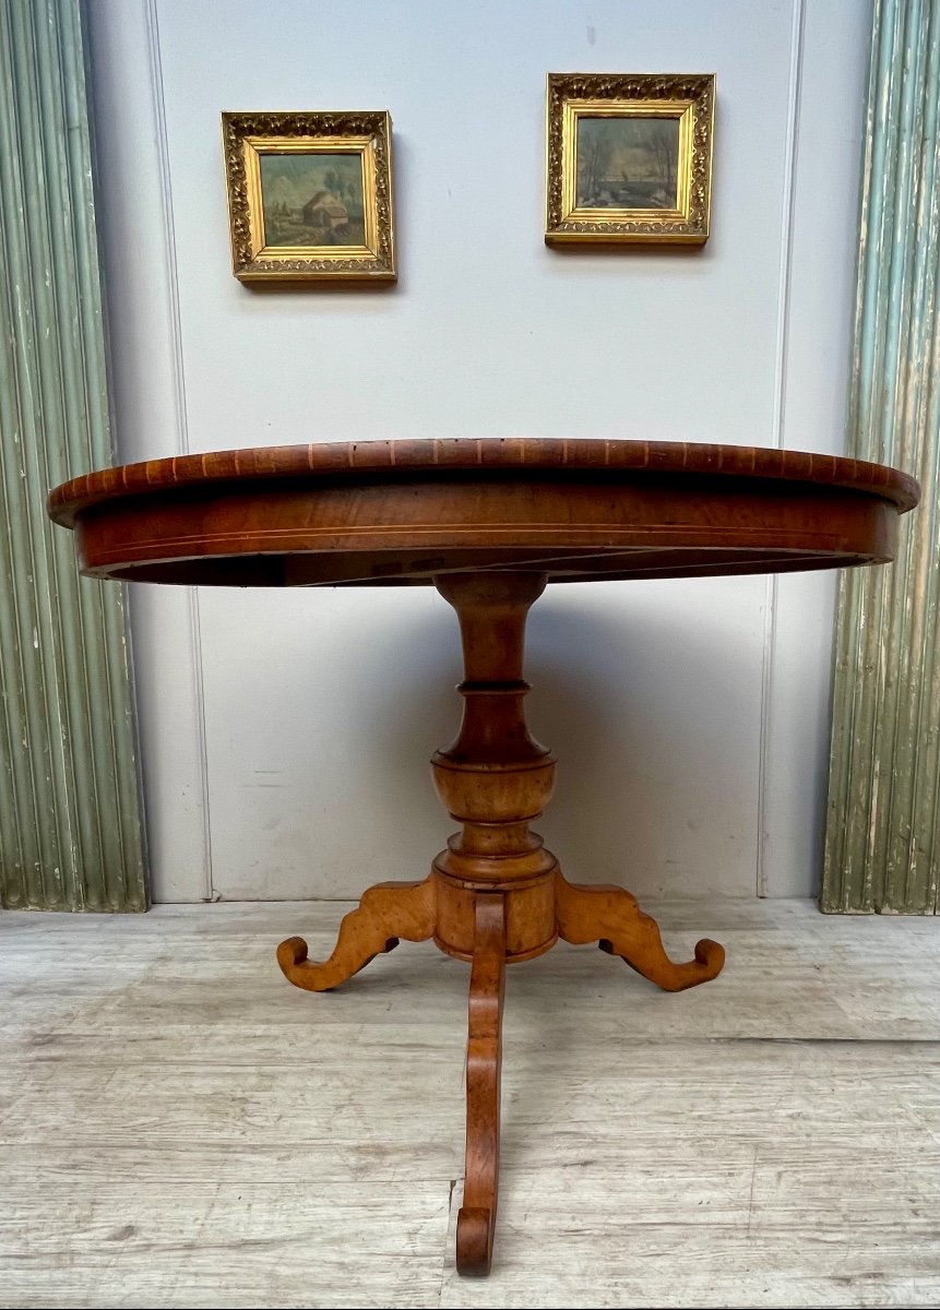
[[[263,21],[261,21],[263,16]],[[838,451],[858,0],[89,0],[119,455],[386,436]],[[549,71],[717,73],[700,252],[542,242]],[[399,283],[230,274],[224,109],[385,109]],[[353,896],[448,832],[427,756],[458,641],[432,591],[132,590],[157,900]],[[809,893],[833,580],[555,587],[530,718],[575,879]]]

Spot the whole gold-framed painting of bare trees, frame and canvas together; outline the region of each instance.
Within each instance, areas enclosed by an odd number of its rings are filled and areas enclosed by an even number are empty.
[[[550,245],[708,240],[714,73],[549,73]]]

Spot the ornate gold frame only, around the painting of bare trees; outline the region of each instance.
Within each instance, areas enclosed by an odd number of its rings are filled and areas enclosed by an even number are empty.
[[[676,208],[579,208],[580,117],[677,118]],[[714,126],[714,73],[549,73],[545,240],[702,245],[708,240]]]

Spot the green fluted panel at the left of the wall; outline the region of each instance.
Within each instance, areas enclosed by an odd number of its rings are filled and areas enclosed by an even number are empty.
[[[46,494],[111,462],[79,0],[0,0],[0,904],[147,908],[123,595]]]

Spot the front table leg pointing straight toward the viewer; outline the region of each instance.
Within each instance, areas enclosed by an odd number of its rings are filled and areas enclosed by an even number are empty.
[[[467,1034],[467,1144],[457,1216],[457,1272],[482,1277],[492,1263],[499,1192],[499,1110],[505,994],[505,899],[480,892],[474,908]]]

